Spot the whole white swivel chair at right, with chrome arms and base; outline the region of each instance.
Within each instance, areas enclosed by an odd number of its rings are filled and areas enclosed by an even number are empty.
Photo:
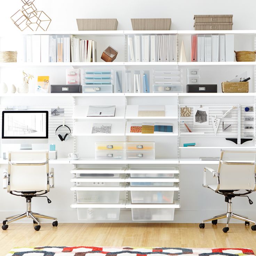
[[[232,212],[231,199],[234,197],[248,197],[247,194],[256,190],[256,150],[221,150],[218,170],[205,167],[203,173],[203,186],[225,196],[227,202],[227,212],[209,219],[205,219],[199,224],[200,229],[205,228],[205,222],[211,221],[216,225],[218,219],[227,218],[227,225],[223,232],[229,231],[231,218],[245,221],[245,225],[254,223],[251,230],[256,230],[256,222],[245,216],[240,216]],[[206,172],[210,171],[216,178],[215,184],[207,184]],[[234,193],[235,191],[245,190],[244,193]],[[248,197],[249,199],[249,197]],[[249,199],[250,205],[253,203]]]

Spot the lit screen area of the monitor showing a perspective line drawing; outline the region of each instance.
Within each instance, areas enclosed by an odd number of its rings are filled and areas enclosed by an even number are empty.
[[[46,137],[45,113],[6,113],[5,137]]]

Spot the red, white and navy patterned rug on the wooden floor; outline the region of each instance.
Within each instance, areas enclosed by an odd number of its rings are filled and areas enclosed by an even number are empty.
[[[170,248],[170,247],[15,247],[6,256],[242,256],[254,255],[245,248]]]

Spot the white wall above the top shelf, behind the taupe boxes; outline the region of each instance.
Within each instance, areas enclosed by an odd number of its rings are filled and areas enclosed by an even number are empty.
[[[171,18],[171,29],[191,30],[198,14],[233,14],[236,30],[256,24],[251,0],[35,0],[34,5],[52,19],[49,30],[77,30],[76,18],[117,18],[118,30],[130,30],[130,18]],[[10,17],[21,7],[21,0],[1,1],[1,32],[17,31]]]

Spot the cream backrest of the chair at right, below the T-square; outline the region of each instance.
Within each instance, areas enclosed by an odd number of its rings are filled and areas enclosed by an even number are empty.
[[[222,150],[219,190],[255,190],[256,150]]]

